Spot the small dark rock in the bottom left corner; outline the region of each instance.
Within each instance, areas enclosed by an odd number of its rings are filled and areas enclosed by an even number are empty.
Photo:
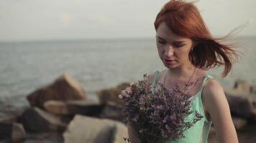
[[[19,142],[24,139],[25,135],[22,124],[0,122],[0,141]]]

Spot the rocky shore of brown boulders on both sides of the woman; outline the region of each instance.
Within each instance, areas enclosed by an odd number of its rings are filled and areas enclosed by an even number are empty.
[[[101,89],[98,99],[68,74],[27,95],[30,107],[21,114],[0,118],[0,142],[121,143],[128,137],[118,95],[129,86]],[[256,87],[237,80],[224,90],[239,142],[256,142]],[[23,111],[24,110],[24,111]],[[214,126],[209,143],[216,142]]]

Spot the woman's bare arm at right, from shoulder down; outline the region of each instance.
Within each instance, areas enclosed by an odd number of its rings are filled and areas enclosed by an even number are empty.
[[[216,129],[220,143],[237,143],[237,132],[232,122],[229,104],[221,85],[209,79],[203,90],[206,110]]]

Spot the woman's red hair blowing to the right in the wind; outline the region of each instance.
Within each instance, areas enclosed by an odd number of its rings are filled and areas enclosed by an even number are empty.
[[[226,77],[239,56],[238,51],[234,50],[236,46],[226,41],[229,34],[221,38],[211,36],[194,3],[183,0],[168,1],[157,14],[155,30],[165,22],[173,33],[196,41],[196,46],[189,53],[191,63],[201,69],[224,65],[222,77]]]

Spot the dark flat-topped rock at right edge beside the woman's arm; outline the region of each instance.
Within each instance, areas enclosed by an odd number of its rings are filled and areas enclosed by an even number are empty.
[[[232,114],[239,117],[256,119],[256,97],[226,94]]]

